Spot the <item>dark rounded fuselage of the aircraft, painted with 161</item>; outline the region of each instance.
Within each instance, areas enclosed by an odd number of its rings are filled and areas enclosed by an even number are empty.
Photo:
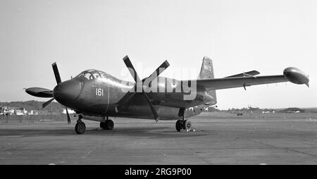
[[[111,75],[104,75],[100,78],[87,79],[77,76],[71,80],[61,82],[54,89],[54,98],[64,106],[92,116],[116,116],[132,118],[152,118],[151,110],[146,99],[139,93],[129,92],[138,90],[135,82],[127,82],[114,78]],[[203,108],[200,105],[213,104],[213,99],[204,91],[195,92],[194,100],[183,100],[184,95],[189,95],[188,84],[182,84],[179,80],[159,77],[157,80],[156,92],[148,92],[149,99],[159,114],[161,120],[175,120],[182,118],[178,116],[180,108],[185,108],[186,116],[199,114]],[[154,87],[152,84],[151,87]],[[144,90],[150,90],[144,87]],[[142,90],[141,90],[142,92]],[[175,95],[175,92],[177,92]],[[131,104],[118,105],[120,99],[125,95],[128,97],[137,95]],[[170,95],[172,94],[173,95]],[[209,106],[208,105],[208,106]],[[189,109],[191,108],[191,109]]]

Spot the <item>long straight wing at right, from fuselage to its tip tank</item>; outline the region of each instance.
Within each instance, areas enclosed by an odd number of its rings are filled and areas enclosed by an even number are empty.
[[[287,82],[284,75],[270,75],[257,77],[214,78],[197,80],[197,88],[203,90],[221,90],[234,87],[248,87],[251,85],[263,85],[275,82]]]

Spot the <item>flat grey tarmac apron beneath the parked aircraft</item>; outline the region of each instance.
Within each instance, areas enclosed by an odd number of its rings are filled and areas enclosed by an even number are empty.
[[[195,132],[176,132],[175,121],[113,119],[113,130],[84,121],[1,123],[0,164],[317,164],[316,118],[190,119]]]

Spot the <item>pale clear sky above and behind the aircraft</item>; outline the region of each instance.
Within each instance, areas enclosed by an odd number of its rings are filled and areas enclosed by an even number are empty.
[[[218,108],[316,107],[317,1],[0,0],[0,101],[46,101],[23,88],[53,89],[54,62],[62,80],[93,68],[132,81],[125,55],[141,78],[168,60],[162,76],[197,69],[177,78],[196,79],[204,56],[215,78],[294,66],[309,75],[309,88],[218,90]]]

